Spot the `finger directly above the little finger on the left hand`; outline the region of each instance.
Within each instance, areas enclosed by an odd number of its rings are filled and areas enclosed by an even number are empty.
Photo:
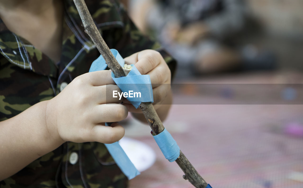
[[[91,113],[92,122],[116,122],[124,120],[128,115],[127,107],[122,104],[100,104],[93,108]]]

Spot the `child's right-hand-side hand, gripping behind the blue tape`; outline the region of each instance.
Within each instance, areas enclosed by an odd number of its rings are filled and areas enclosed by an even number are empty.
[[[135,64],[141,74],[150,76],[153,87],[153,104],[168,104],[165,103],[165,98],[170,94],[171,72],[161,54],[155,50],[143,50],[124,60],[126,64]],[[140,109],[135,109],[126,99],[123,100],[123,103],[129,108],[130,112],[142,113]],[[154,107],[157,109],[160,105],[154,105]]]

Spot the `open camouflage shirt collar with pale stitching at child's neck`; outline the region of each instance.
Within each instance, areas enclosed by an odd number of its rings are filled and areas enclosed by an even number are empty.
[[[121,7],[122,4],[119,5],[114,1],[108,0],[85,0],[85,3],[100,32],[111,28],[124,27],[123,16],[120,14],[123,8]],[[73,0],[64,0],[64,6],[64,18],[68,28],[63,30],[63,59],[61,58],[63,67],[67,66],[82,48],[85,48],[85,51],[95,48],[95,45],[82,27],[82,21]],[[71,36],[76,40],[74,43],[71,41]],[[31,44],[25,44],[26,42],[24,41],[24,39],[9,31],[0,19],[0,54],[23,69],[57,78],[58,66],[41,51],[35,49]],[[73,46],[71,48],[67,45]],[[71,49],[72,51],[70,51]],[[65,55],[66,53],[64,54],[67,50],[69,50],[68,56]]]

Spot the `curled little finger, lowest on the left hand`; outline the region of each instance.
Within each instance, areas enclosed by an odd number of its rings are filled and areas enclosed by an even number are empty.
[[[91,130],[91,139],[101,143],[114,143],[124,136],[125,130],[118,123],[113,123],[110,127],[95,125]]]

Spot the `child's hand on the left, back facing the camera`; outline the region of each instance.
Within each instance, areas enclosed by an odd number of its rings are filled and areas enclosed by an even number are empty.
[[[106,85],[105,84],[110,84]],[[46,122],[52,137],[72,142],[113,143],[124,135],[117,123],[106,127],[104,122],[121,121],[128,109],[118,98],[106,100],[106,91],[121,92],[111,78],[111,71],[95,71],[75,78],[56,97],[48,101]],[[106,104],[113,103],[113,104]]]

